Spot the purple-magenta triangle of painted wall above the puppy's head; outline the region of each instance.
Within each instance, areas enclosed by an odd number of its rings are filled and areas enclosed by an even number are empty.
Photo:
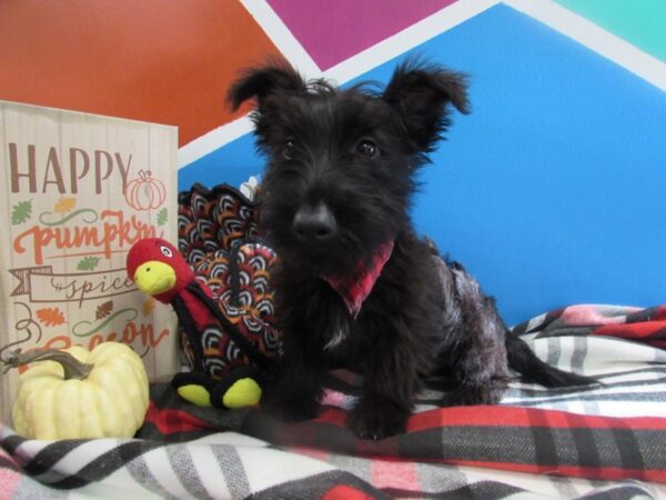
[[[268,0],[322,70],[455,0]]]

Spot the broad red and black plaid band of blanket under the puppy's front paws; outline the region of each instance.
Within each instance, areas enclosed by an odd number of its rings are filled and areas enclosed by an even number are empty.
[[[441,408],[414,414],[406,433],[374,442],[357,440],[345,426],[346,411],[340,408],[291,424],[259,409],[242,410],[242,417],[183,409],[180,401],[154,389],[159,401],[151,406],[142,431],[151,438],[161,434],[160,439],[182,441],[235,430],[295,451],[666,483],[666,418],[503,406]]]

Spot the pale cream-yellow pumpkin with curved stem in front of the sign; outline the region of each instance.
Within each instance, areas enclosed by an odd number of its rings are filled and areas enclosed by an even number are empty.
[[[19,379],[16,431],[31,439],[131,438],[148,411],[148,376],[127,344],[103,342],[14,352],[3,362],[32,363]]]

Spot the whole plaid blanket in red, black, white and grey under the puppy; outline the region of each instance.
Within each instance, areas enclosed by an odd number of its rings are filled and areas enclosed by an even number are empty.
[[[153,384],[137,439],[36,441],[0,426],[0,499],[666,496],[666,307],[574,306],[514,332],[603,384],[516,380],[498,406],[438,408],[443,382],[428,380],[408,431],[377,442],[344,427],[350,372],[332,373],[324,412],[297,424]]]

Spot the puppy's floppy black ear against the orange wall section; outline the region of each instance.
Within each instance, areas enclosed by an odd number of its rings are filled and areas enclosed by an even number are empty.
[[[229,90],[228,100],[233,110],[251,98],[256,98],[259,108],[265,97],[278,92],[305,92],[305,81],[299,72],[286,63],[272,63],[252,68],[236,80]]]

